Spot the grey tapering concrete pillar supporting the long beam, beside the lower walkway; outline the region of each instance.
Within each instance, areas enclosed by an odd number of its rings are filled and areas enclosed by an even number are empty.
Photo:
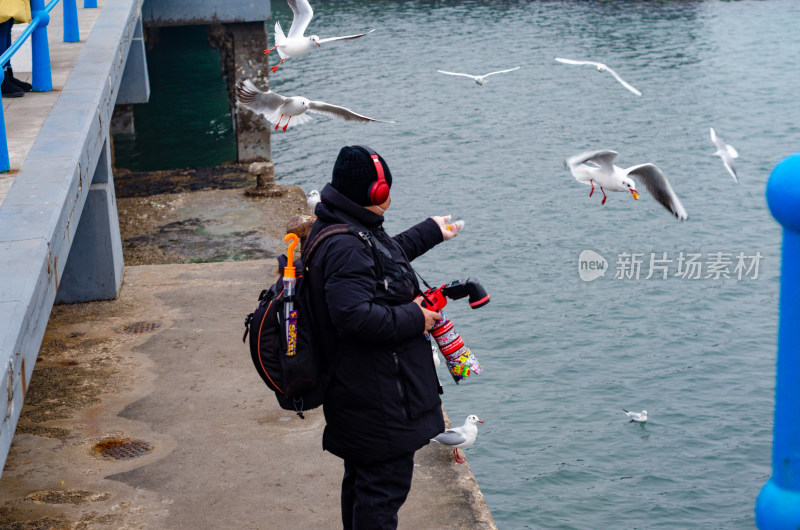
[[[106,136],[56,293],[56,303],[116,298],[122,284],[122,267],[110,138]]]

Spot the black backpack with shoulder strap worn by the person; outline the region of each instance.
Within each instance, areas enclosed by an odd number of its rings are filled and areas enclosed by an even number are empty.
[[[334,224],[320,230],[303,245],[301,256],[294,260],[297,278],[294,309],[297,311],[297,345],[294,355],[287,355],[286,319],[284,316],[283,269],[286,256],[278,257],[278,279],[258,297],[258,307],[247,315],[242,342],[250,335],[250,356],[264,383],[275,392],[281,408],[297,412],[322,405],[331,371],[314,350],[308,289],[303,285],[304,263],[311,263],[314,251],[325,239],[337,234],[353,234],[373,249],[371,235],[348,224]],[[380,264],[378,260],[376,263]],[[380,268],[380,265],[378,265]]]

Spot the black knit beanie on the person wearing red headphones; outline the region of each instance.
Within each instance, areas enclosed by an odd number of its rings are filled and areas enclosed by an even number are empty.
[[[392,187],[392,172],[381,155],[378,160],[383,165],[383,176],[386,184]],[[358,146],[345,146],[339,151],[333,165],[331,186],[339,193],[360,206],[369,206],[369,189],[378,181],[375,162],[364,149]]]

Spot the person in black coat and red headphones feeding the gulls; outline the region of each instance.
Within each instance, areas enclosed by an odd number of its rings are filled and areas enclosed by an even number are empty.
[[[344,460],[345,529],[396,528],[414,452],[444,430],[441,387],[424,336],[441,315],[421,307],[410,262],[455,237],[462,224],[431,217],[389,236],[382,214],[391,185],[377,153],[343,147],[308,236],[338,223],[359,233],[323,241],[304,280],[315,344],[331,374],[322,447]]]

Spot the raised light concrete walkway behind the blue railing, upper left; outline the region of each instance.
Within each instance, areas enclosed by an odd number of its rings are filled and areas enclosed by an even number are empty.
[[[33,147],[39,130],[44,125],[50,110],[58,101],[61,89],[67,82],[72,67],[78,60],[86,39],[89,37],[106,0],[98,0],[97,8],[84,9],[83,1],[78,1],[78,27],[80,42],[64,42],[64,16],[61,2],[50,12],[50,23],[47,26],[47,40],[50,43],[50,67],[52,71],[53,90],[50,92],[28,92],[21,98],[3,98],[3,114],[6,121],[8,141],[8,157],[11,171],[0,173],[0,204],[3,203],[8,190],[14,183],[15,173],[22,167],[28,151]],[[30,41],[30,38],[28,39]],[[19,54],[19,52],[17,52]],[[14,76],[23,81],[31,81],[30,71],[25,65],[11,58]]]

